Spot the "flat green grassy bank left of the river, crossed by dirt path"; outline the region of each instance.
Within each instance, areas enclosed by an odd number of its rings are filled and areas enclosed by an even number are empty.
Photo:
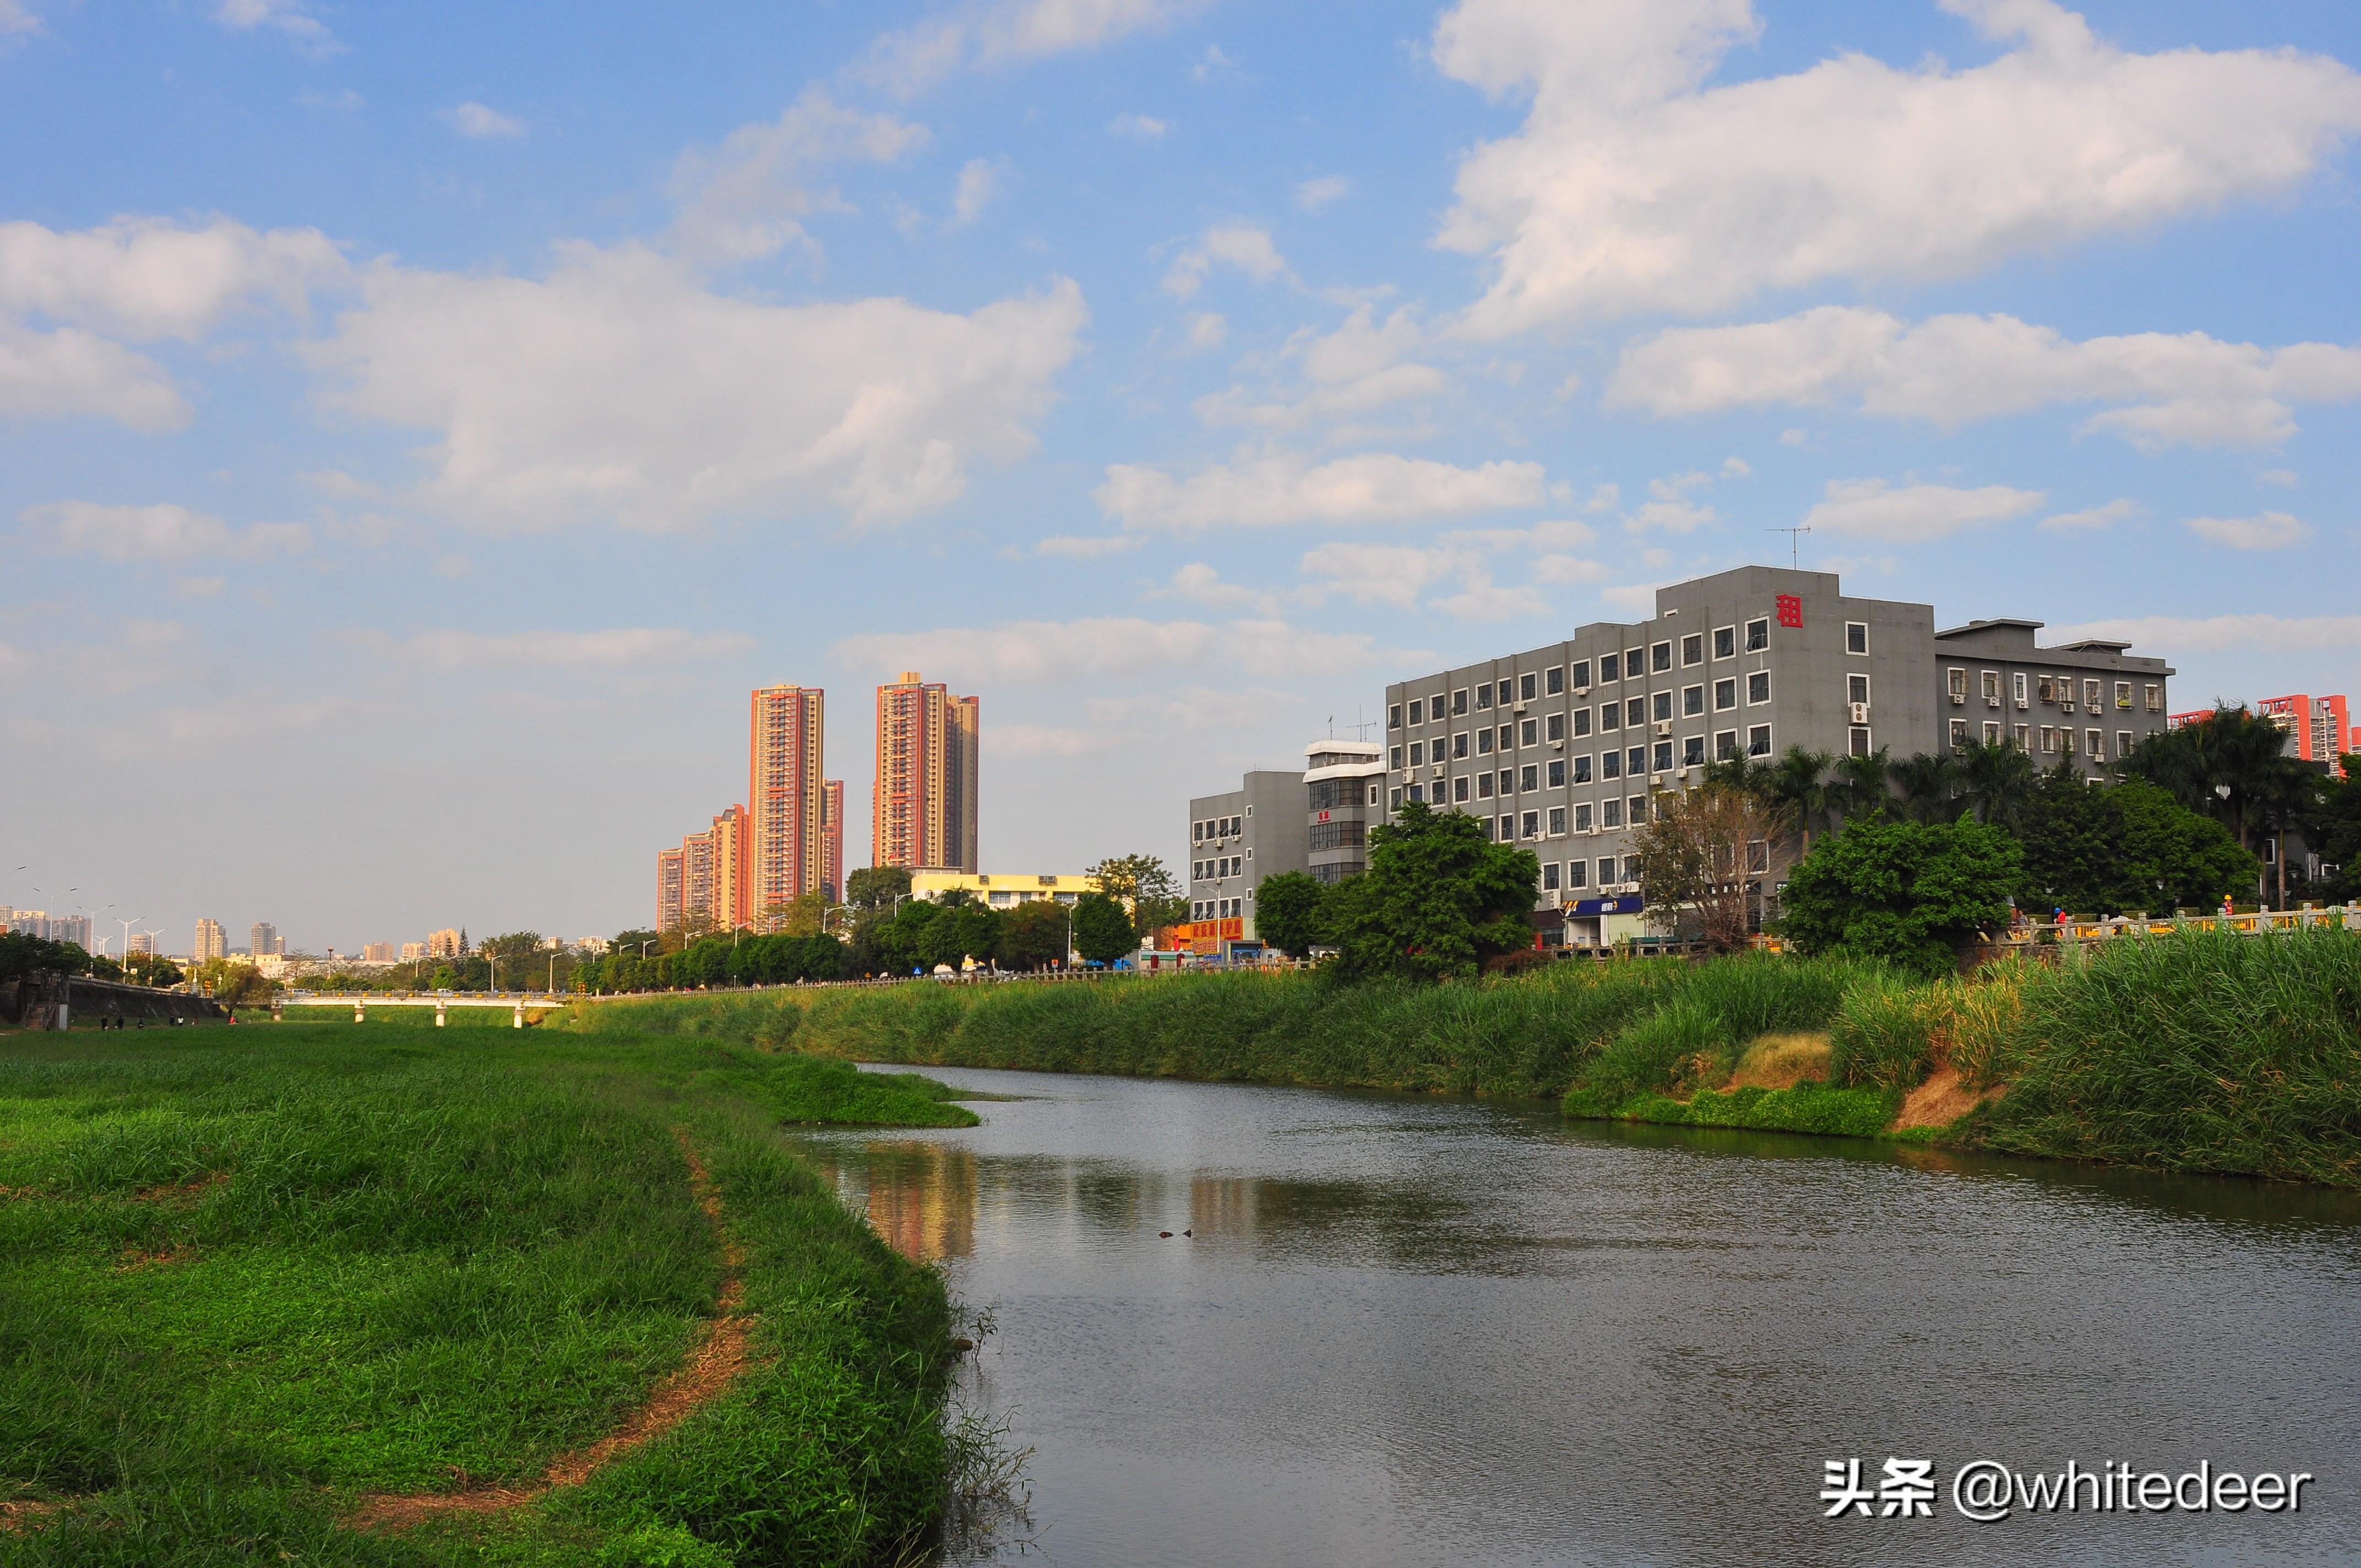
[[[949,1304],[781,1124],[942,1093],[678,1037],[14,1037],[0,1561],[892,1559]]]

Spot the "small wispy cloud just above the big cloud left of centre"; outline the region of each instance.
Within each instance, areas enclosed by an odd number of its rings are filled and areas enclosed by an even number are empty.
[[[833,191],[812,187],[822,168],[892,163],[928,139],[926,125],[845,109],[826,90],[805,87],[777,120],[739,125],[720,146],[680,156],[675,241],[692,255],[734,262],[807,243],[800,220],[843,208]]]

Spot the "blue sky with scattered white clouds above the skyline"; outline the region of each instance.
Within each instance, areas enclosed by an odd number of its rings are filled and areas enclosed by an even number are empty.
[[[864,864],[900,668],[985,699],[987,869],[1185,860],[1792,524],[2352,690],[2356,66],[2328,0],[0,0],[0,902],[616,930],[751,685]]]

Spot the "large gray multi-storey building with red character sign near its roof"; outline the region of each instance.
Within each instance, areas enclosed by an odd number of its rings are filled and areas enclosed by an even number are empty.
[[[1993,671],[2012,701],[2026,682],[2033,706],[1993,718],[2028,725],[2004,734],[2035,763],[2066,756],[2038,751],[2040,690],[2073,690],[2078,720],[2089,682],[2104,704],[2132,687],[2130,711],[2108,706],[2123,720],[2149,720],[2156,704],[2153,725],[2104,725],[2106,756],[2125,732],[2137,741],[2163,725],[2163,661],[2115,642],[2035,649],[2035,626],[1979,621],[1938,638],[1931,605],[1851,597],[1832,571],[1740,567],[1674,583],[1653,619],[1388,685],[1386,815],[1426,801],[1483,817],[1487,836],[1539,855],[1544,928],[1563,914],[1568,942],[1613,942],[1639,928],[1631,829],[1653,793],[1690,789],[1707,760],[1790,746],[1905,758],[1948,749],[1962,718],[1981,739],[1986,720],[1953,701],[1955,671],[1971,694]],[[2078,744],[2087,758],[2089,737]]]

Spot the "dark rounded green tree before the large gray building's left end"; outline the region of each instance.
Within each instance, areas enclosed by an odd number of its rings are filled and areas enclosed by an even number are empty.
[[[1332,971],[1343,980],[1473,975],[1532,947],[1542,862],[1492,843],[1476,817],[1412,801],[1369,831],[1369,869],[1334,888]]]

